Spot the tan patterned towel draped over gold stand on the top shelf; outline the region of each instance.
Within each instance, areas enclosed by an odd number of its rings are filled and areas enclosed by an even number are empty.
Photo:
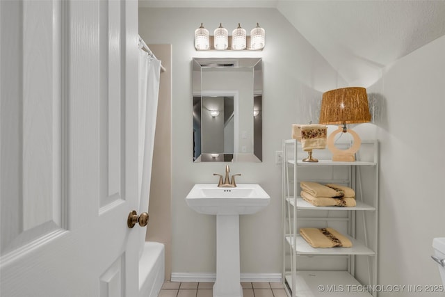
[[[323,150],[326,147],[326,125],[292,125],[292,138],[301,141],[302,150]]]

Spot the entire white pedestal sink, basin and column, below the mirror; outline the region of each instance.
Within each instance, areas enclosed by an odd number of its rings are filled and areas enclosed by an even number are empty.
[[[242,297],[239,262],[239,215],[264,209],[270,196],[259,184],[236,188],[195,184],[186,197],[191,209],[216,215],[216,282],[213,297]]]

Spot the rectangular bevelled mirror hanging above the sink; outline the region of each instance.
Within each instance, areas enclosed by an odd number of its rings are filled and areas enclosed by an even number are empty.
[[[193,58],[193,161],[261,162],[261,58]]]

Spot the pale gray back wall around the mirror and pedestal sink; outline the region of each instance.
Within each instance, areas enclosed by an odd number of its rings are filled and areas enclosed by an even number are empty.
[[[220,22],[232,31],[238,22],[248,31],[257,22],[266,29],[264,51],[195,51],[194,31],[203,22],[213,31]],[[272,200],[264,211],[241,216],[241,272],[281,272],[281,167],[275,151],[291,137],[292,123],[317,121],[318,114],[302,102],[343,80],[300,33],[275,9],[141,8],[139,32],[150,44],[172,44],[172,272],[216,271],[215,218],[197,214],[184,198],[197,182],[216,183],[213,172],[225,163],[193,163],[193,57],[261,57],[264,65],[263,162],[230,163],[242,174],[239,183],[261,184]],[[344,83],[344,82],[343,82]],[[316,103],[315,103],[316,105]],[[312,114],[314,113],[314,114]],[[162,116],[162,115],[159,115]]]

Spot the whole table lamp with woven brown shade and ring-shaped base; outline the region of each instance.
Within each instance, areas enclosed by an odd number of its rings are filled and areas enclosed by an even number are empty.
[[[340,124],[339,129],[327,138],[327,148],[332,152],[332,161],[355,161],[361,140],[355,131],[347,129],[346,124],[369,122],[368,96],[366,89],[360,87],[339,88],[323,93],[320,111],[320,124]],[[348,150],[339,150],[334,145],[334,137],[339,133],[349,132],[353,136],[353,146]]]

